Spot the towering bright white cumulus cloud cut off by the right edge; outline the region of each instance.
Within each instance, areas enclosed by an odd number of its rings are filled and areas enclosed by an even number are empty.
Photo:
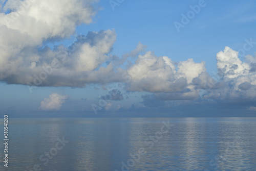
[[[206,91],[205,99],[224,101],[254,101],[256,100],[256,57],[245,56],[245,61],[239,59],[237,51],[225,47],[216,56],[219,83],[222,86]]]

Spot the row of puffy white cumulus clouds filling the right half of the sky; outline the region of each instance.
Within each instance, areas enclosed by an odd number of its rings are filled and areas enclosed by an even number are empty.
[[[218,74],[214,79],[206,72],[204,62],[188,59],[176,64],[168,57],[146,52],[127,69],[130,81],[126,89],[153,92],[151,97],[154,96],[156,102],[199,98],[228,102],[256,100],[256,57],[248,55],[242,62],[238,52],[225,47],[223,52],[217,53],[216,59]],[[143,99],[146,104],[148,98]]]

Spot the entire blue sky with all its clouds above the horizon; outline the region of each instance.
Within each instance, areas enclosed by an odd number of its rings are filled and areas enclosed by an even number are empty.
[[[255,117],[255,1],[0,0],[0,113]]]

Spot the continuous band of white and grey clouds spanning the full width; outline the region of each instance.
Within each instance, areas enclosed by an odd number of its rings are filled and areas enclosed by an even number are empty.
[[[114,29],[79,35],[69,47],[46,46],[69,38],[81,23],[89,25],[97,13],[93,5],[97,2],[7,1],[0,13],[0,81],[69,87],[125,82],[126,90],[150,92],[152,96],[144,99],[157,101],[199,97],[255,99],[256,58],[246,56],[242,62],[238,52],[229,47],[217,54],[218,79],[214,80],[204,62],[188,59],[176,63],[166,56],[157,57],[151,51],[142,54],[146,46],[141,43],[121,58],[111,55],[116,41]],[[123,67],[129,57],[136,58],[135,63],[128,61]],[[116,98],[122,100],[122,94],[119,92]]]

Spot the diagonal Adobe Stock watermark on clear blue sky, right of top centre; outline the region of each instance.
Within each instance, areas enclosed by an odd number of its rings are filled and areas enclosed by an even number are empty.
[[[209,0],[210,1],[210,0]],[[188,23],[190,22],[191,19],[195,18],[195,16],[201,11],[202,8],[204,8],[206,6],[206,2],[205,0],[199,0],[198,1],[198,5],[190,5],[189,8],[191,10],[189,10],[186,14],[181,14],[182,18],[181,21],[175,21],[174,22],[174,26],[177,30],[177,32],[180,32],[181,28],[185,28],[186,25],[188,25]]]

